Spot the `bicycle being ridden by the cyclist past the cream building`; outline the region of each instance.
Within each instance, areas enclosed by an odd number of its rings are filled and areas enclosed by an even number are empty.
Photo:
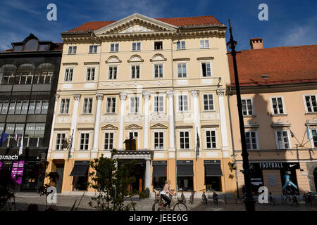
[[[171,191],[174,192],[175,190]],[[174,198],[173,195],[170,195],[170,206],[163,207],[164,203],[166,203],[165,200],[161,198],[159,191],[154,189],[154,192],[156,193],[156,199],[152,205],[152,211],[187,211],[187,206],[178,199],[177,193],[175,193]]]

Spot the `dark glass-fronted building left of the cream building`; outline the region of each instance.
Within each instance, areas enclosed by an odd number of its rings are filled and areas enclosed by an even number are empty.
[[[0,133],[8,134],[0,147],[0,169],[22,176],[17,191],[37,191],[44,179],[62,46],[30,34],[12,47],[0,53]]]

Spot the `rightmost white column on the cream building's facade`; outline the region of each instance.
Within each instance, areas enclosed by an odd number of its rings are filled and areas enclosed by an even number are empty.
[[[223,95],[225,94],[225,89],[217,89],[218,100],[219,100],[219,114],[220,114],[220,129],[221,129],[221,141],[223,143],[223,150],[228,150],[228,132],[227,132],[227,122],[225,118],[225,100]]]

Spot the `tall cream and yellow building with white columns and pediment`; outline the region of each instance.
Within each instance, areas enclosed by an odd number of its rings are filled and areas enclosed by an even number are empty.
[[[58,192],[82,191],[87,163],[116,148],[122,162],[137,160],[139,191],[169,179],[185,195],[234,194],[225,30],[213,16],[136,13],[64,32],[48,154],[48,172],[61,176]],[[125,150],[129,136],[137,150]]]

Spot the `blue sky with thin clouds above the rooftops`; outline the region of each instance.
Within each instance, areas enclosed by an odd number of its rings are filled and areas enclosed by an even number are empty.
[[[46,19],[51,3],[57,6],[57,21]],[[268,5],[268,21],[258,19],[262,3]],[[213,15],[225,25],[230,18],[238,50],[250,49],[253,37],[262,37],[266,48],[316,44],[316,8],[316,0],[8,0],[0,7],[0,50],[10,49],[11,42],[23,41],[30,32],[61,42],[61,32],[87,21],[120,20],[132,13],[151,18]]]

